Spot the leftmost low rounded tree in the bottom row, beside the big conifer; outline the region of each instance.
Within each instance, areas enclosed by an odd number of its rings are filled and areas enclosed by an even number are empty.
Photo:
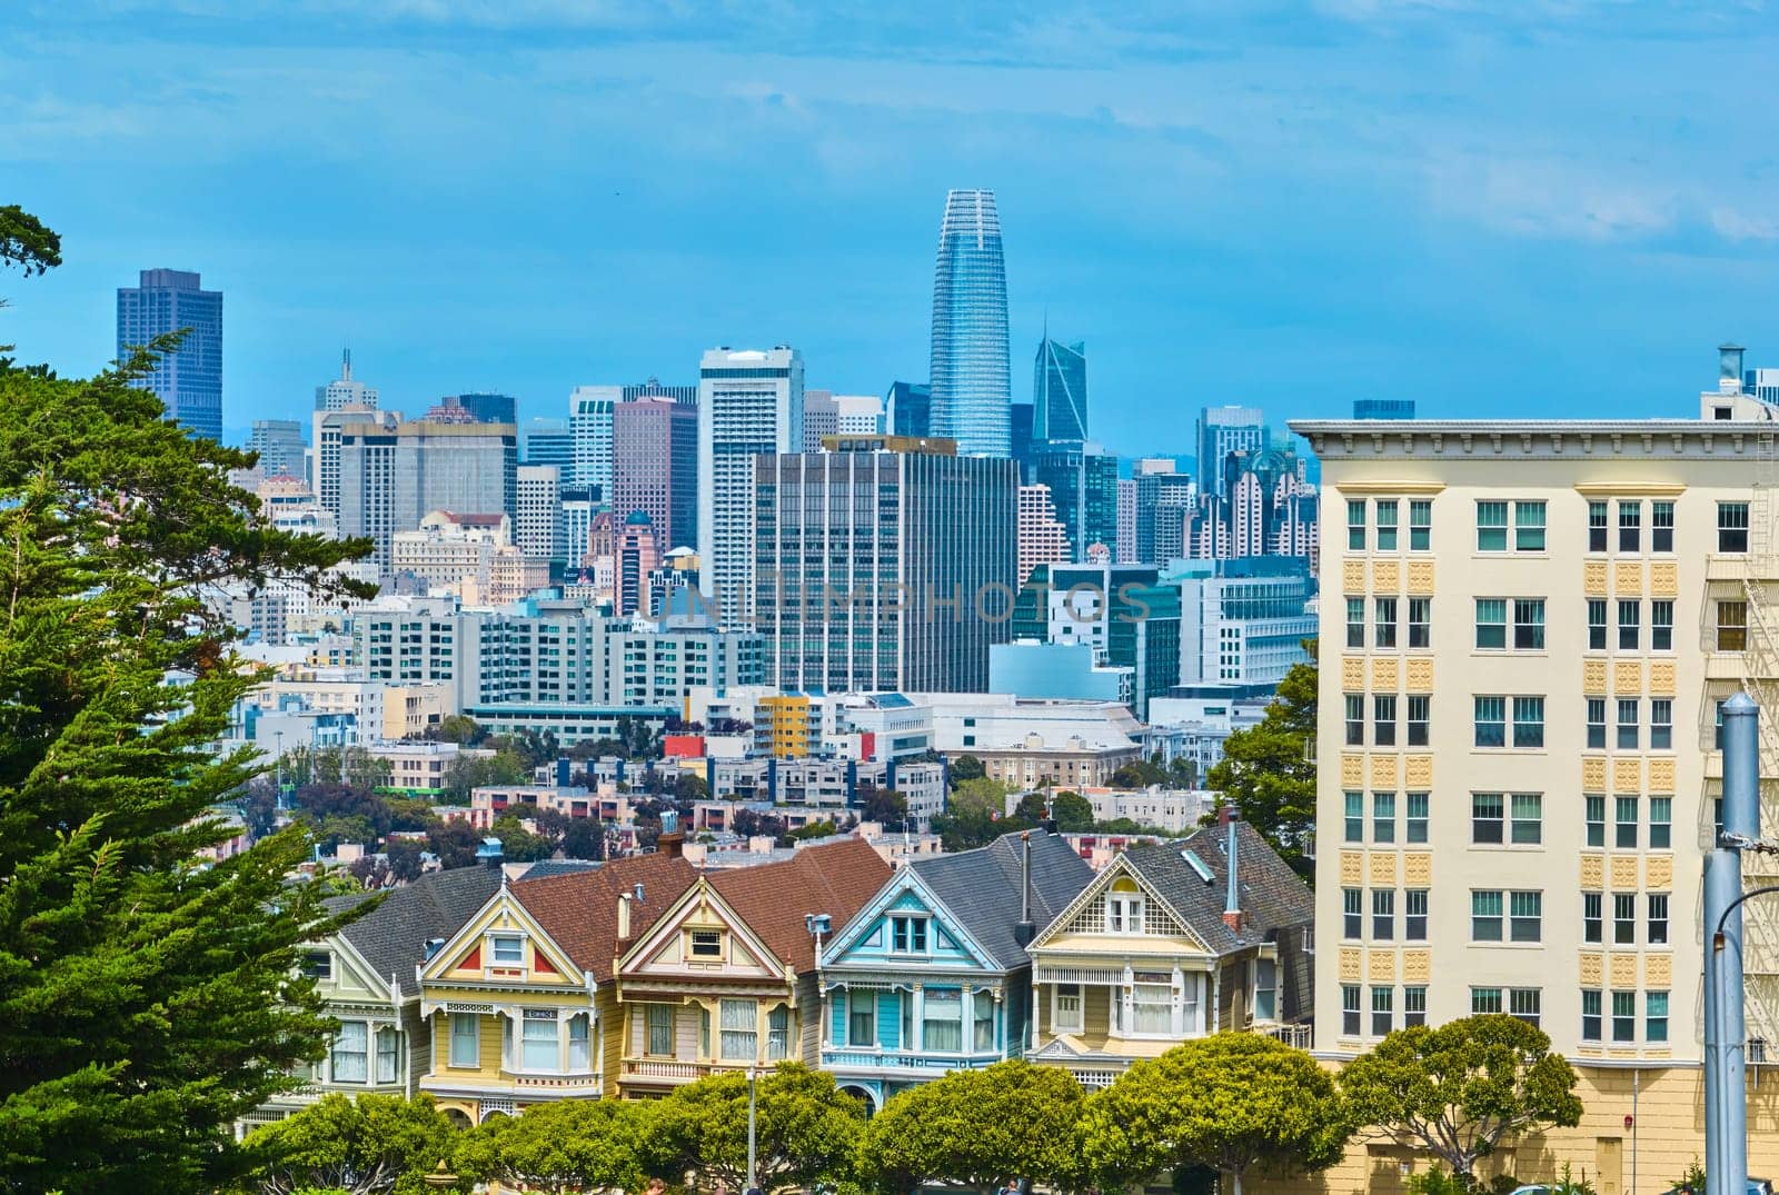
[[[247,1135],[249,1190],[295,1195],[308,1188],[347,1195],[418,1195],[457,1131],[431,1095],[324,1095],[286,1120]]]

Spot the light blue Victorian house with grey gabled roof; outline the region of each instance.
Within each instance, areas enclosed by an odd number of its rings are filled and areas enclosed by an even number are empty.
[[[1023,1056],[1025,948],[1092,878],[1042,832],[900,868],[822,951],[822,1069],[875,1111],[946,1071]]]

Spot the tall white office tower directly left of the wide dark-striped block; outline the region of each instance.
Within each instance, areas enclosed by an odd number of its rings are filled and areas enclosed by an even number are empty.
[[[706,350],[697,379],[697,558],[724,626],[753,617],[754,457],[801,448],[802,354],[790,345]]]

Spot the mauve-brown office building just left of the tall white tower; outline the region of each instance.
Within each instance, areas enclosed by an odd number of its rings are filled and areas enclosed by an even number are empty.
[[[612,510],[649,516],[662,551],[697,542],[697,405],[635,398],[612,413]]]

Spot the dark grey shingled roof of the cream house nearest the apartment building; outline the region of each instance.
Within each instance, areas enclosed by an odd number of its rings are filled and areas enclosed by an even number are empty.
[[[1292,871],[1260,830],[1247,822],[1236,822],[1235,827],[1240,930],[1231,930],[1222,919],[1229,893],[1228,825],[1206,825],[1174,843],[1133,846],[1124,852],[1130,866],[1219,955],[1270,941],[1283,928],[1309,925],[1315,919],[1309,886]],[[1187,852],[1211,873],[1208,884],[1187,862]]]

